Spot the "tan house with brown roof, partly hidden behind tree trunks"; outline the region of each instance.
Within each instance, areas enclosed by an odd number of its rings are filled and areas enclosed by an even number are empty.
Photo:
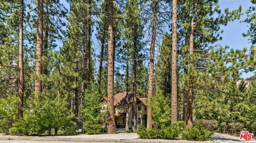
[[[127,97],[127,98],[126,98]],[[119,92],[114,95],[114,113],[115,113],[115,121],[116,128],[125,128],[126,124],[126,103],[128,101],[129,104],[129,128],[132,128],[132,115],[133,115],[133,94],[129,92],[126,96],[126,92]],[[126,100],[127,99],[127,100]],[[137,125],[147,125],[147,106],[146,106],[147,98],[140,98],[137,96]],[[100,102],[102,103],[101,110],[107,110],[107,97],[103,97]]]

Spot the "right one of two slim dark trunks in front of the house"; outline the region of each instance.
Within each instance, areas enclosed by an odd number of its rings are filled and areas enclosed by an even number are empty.
[[[133,41],[133,132],[137,130],[137,38],[136,30],[134,30]]]

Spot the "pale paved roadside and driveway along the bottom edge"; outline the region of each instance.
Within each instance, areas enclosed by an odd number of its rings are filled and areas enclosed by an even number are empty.
[[[222,134],[222,133],[215,133],[213,135],[214,142],[230,142],[230,143],[237,143],[237,142],[245,142],[242,140],[239,140],[239,137],[230,136],[228,134]],[[209,141],[186,141],[186,140],[160,140],[160,139],[154,139],[154,140],[145,140],[145,139],[139,139],[139,136],[137,133],[118,133],[118,134],[97,134],[97,135],[85,135],[80,134],[77,136],[51,136],[51,137],[20,137],[20,136],[0,136],[0,143],[46,143],[46,142],[52,142],[52,143],[60,143],[60,142],[70,142],[70,143],[76,143],[76,142],[172,142],[172,143],[194,143],[194,142],[209,142]]]

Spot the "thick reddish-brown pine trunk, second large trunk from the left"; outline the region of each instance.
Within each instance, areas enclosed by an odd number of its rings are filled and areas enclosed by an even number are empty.
[[[36,37],[36,80],[35,95],[42,91],[42,53],[43,53],[43,0],[38,0],[37,37]]]

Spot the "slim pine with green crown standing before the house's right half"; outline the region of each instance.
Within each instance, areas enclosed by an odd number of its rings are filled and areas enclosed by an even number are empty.
[[[133,131],[137,129],[137,96],[138,96],[138,58],[143,55],[139,54],[142,51],[142,24],[140,17],[139,3],[137,0],[129,0],[125,6],[125,22],[124,22],[124,37],[126,39],[125,47],[126,59],[130,57],[132,60],[132,93],[133,93]],[[132,48],[129,48],[132,47]],[[127,66],[127,65],[126,65]],[[139,65],[141,66],[141,65]]]

